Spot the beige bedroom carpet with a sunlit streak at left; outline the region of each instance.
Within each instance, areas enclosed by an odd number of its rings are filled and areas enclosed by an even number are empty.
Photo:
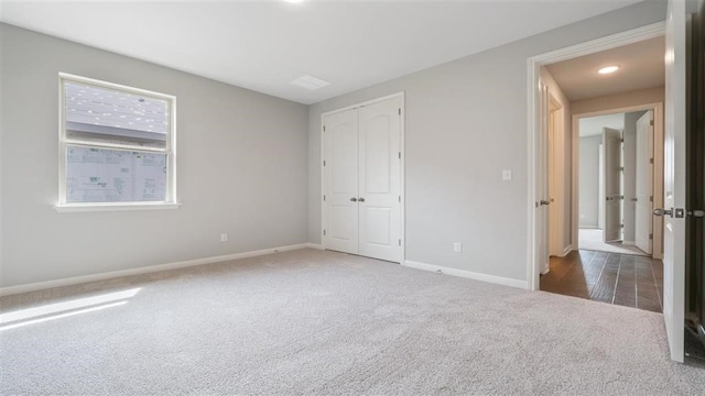
[[[332,252],[0,304],[2,395],[705,392],[704,370],[669,361],[659,314]]]

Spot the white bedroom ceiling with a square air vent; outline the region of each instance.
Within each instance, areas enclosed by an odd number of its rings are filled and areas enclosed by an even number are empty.
[[[314,103],[639,1],[0,0],[0,21]]]

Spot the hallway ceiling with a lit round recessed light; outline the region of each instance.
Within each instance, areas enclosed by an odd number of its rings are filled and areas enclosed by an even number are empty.
[[[576,57],[546,66],[571,101],[599,98],[637,89],[661,87],[665,80],[664,37]],[[620,66],[609,75],[598,69]]]

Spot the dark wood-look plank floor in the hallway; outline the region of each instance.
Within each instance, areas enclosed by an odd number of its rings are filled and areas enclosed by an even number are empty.
[[[662,311],[663,263],[647,256],[573,251],[551,257],[541,290]]]

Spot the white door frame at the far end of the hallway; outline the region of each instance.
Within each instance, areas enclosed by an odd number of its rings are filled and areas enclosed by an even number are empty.
[[[573,177],[572,177],[572,212],[571,212],[571,244],[577,249],[578,245],[578,193],[579,193],[579,139],[582,118],[606,116],[615,113],[627,113],[634,111],[653,111],[653,174],[651,175],[651,190],[653,191],[653,208],[663,207],[663,102],[628,106],[615,109],[590,111],[573,114]],[[663,258],[663,218],[652,216],[653,242],[651,245],[651,256]]]

